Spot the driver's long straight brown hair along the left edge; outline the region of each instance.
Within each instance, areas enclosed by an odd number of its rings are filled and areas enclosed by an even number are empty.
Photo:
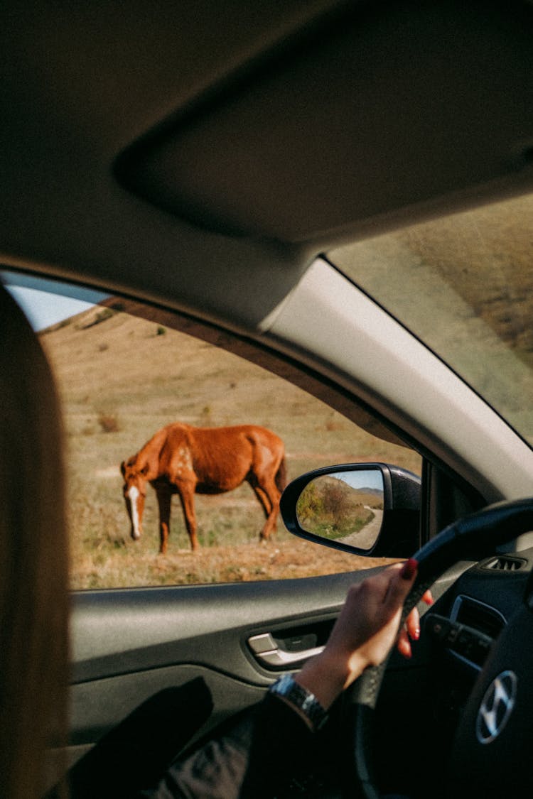
[[[26,317],[0,285],[0,796],[40,797],[65,745],[68,548],[58,400]]]

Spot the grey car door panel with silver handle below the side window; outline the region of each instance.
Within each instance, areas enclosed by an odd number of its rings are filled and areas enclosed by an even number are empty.
[[[75,594],[72,745],[93,744],[157,691],[195,678],[213,701],[202,732],[213,729],[325,642],[348,586],[365,574]],[[455,577],[444,576],[434,595]],[[295,659],[266,664],[249,645],[262,634]]]

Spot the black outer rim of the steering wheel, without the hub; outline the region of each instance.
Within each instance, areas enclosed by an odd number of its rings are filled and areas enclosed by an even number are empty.
[[[412,557],[418,561],[416,581],[404,602],[402,624],[422,595],[448,568],[463,559],[480,560],[495,547],[508,543],[533,530],[533,498],[496,503],[463,517],[444,528],[435,539]],[[388,658],[380,666],[371,666],[354,683],[348,696],[352,706],[353,769],[356,795],[380,799],[373,777],[372,732],[374,713]],[[353,796],[352,786],[347,796]]]

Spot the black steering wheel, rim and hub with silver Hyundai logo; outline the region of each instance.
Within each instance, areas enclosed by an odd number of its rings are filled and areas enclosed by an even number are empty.
[[[463,559],[479,560],[531,530],[533,499],[491,505],[446,527],[413,555],[418,572],[404,603],[402,623],[424,591],[450,566]],[[446,795],[454,799],[531,796],[533,792],[527,749],[524,760],[533,718],[532,610],[533,595],[496,639],[459,720],[447,769],[436,774],[440,785],[447,773],[451,775]],[[365,799],[380,797],[372,777],[371,741],[373,710],[386,668],[387,661],[365,670],[348,698],[352,703],[356,795]],[[354,786],[347,787],[348,795],[353,796]]]

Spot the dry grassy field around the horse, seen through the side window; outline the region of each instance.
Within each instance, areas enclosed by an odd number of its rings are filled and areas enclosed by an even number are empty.
[[[261,545],[263,516],[247,484],[225,495],[197,496],[196,554],[189,551],[175,498],[165,556],[157,555],[149,487],[144,533],[133,542],[120,463],[171,421],[264,425],[284,439],[289,479],[350,461],[386,461],[420,472],[420,458],[265,369],[161,324],[97,308],[44,332],[42,342],[65,415],[75,588],[295,577],[376,563],[294,539],[281,522],[275,538]]]

